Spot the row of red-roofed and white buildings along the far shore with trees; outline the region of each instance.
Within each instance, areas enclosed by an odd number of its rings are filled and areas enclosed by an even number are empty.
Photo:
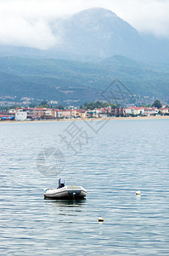
[[[164,116],[169,115],[168,106],[155,107],[104,107],[95,109],[83,108],[9,108],[0,112],[0,121],[32,121],[54,119],[99,119],[138,116]]]

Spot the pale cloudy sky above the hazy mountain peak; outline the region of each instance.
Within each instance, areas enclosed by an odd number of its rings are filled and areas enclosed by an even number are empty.
[[[0,0],[0,44],[48,49],[61,42],[51,20],[94,7],[110,9],[138,32],[169,38],[169,0]]]

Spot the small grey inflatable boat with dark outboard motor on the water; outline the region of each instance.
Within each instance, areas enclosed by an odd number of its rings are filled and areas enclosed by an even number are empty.
[[[59,178],[57,189],[44,189],[44,197],[51,199],[82,199],[87,195],[87,190],[82,186],[65,186],[64,178]]]

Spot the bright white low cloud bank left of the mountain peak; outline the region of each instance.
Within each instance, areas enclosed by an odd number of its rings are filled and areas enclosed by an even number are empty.
[[[8,16],[0,18],[0,43],[48,49],[57,44],[55,38],[43,20],[25,20],[23,17]]]

